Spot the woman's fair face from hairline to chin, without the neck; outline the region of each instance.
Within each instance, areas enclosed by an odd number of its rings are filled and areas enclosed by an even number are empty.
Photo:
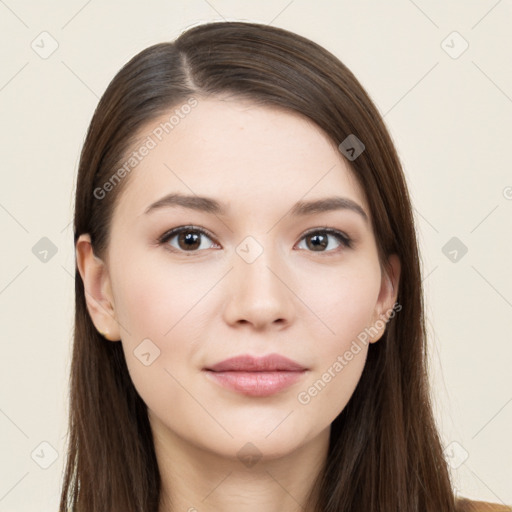
[[[396,300],[398,262],[381,273],[364,194],[311,122],[220,98],[186,110],[132,148],[102,286],[86,281],[116,321],[90,295],[89,311],[121,338],[160,435],[278,457],[325,435],[347,404]],[[269,354],[298,369],[212,371]]]

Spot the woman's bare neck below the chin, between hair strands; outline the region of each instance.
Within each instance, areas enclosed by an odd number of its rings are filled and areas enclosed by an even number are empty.
[[[306,502],[310,494],[316,500],[314,484],[329,445],[326,429],[286,456],[239,459],[192,445],[161,424],[153,437],[161,477],[158,512],[312,512]],[[246,451],[251,453],[249,445]]]

